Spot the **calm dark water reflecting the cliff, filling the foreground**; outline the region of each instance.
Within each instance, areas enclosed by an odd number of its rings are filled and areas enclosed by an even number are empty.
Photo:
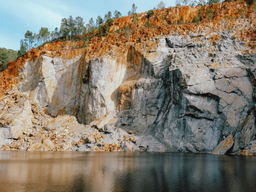
[[[0,192],[256,191],[256,156],[0,151]]]

